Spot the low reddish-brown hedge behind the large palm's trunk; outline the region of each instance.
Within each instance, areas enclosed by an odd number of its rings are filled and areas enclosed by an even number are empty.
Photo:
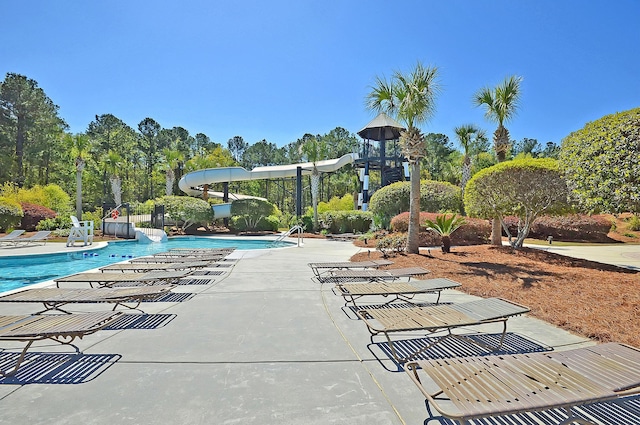
[[[420,246],[440,246],[440,235],[425,226],[426,220],[435,221],[437,213],[420,213]],[[451,235],[452,245],[482,245],[489,241],[491,236],[491,223],[488,220],[465,217],[467,224],[460,226]],[[391,220],[393,232],[404,233],[409,229],[409,213],[398,214]]]

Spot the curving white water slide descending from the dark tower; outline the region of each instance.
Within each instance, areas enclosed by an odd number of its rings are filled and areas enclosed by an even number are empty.
[[[321,173],[330,173],[347,164],[351,164],[357,159],[357,153],[349,153],[340,158],[318,161],[316,162],[316,168]],[[178,182],[178,187],[187,195],[200,196],[202,195],[202,191],[204,190],[203,186],[205,184],[209,185],[213,183],[296,177],[298,167],[302,169],[303,175],[309,175],[313,171],[312,162],[256,167],[251,171],[247,171],[242,167],[205,168],[202,170],[192,171],[182,176]],[[208,192],[208,195],[210,197],[213,196],[217,198],[222,198],[224,196],[222,192],[212,191]],[[255,196],[229,194],[229,199],[236,200],[245,198],[255,198]],[[231,204],[214,205],[213,212],[216,218],[231,217]]]

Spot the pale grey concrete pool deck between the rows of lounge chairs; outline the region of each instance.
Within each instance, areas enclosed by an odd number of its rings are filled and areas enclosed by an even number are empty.
[[[30,253],[71,249],[61,245],[24,249]],[[636,246],[634,252],[638,250]],[[372,343],[364,324],[331,291],[332,285],[311,279],[307,263],[347,261],[359,251],[348,242],[322,239],[305,239],[303,248],[236,251],[238,261],[224,275],[214,276],[208,284],[177,286],[175,291],[190,294],[188,299],[145,303],[146,313],[164,320],[157,326],[101,330],[77,342],[84,353],[77,358],[65,362],[45,354],[34,360],[40,369],[33,374],[0,380],[0,421],[15,425],[426,423],[429,414],[415,385],[384,354],[379,340]],[[0,249],[0,255],[4,252]],[[441,302],[474,298],[449,290]],[[434,296],[425,295],[424,300],[433,301]],[[39,307],[3,303],[0,312],[26,314]],[[497,333],[501,325],[467,331]],[[510,319],[508,332],[553,349],[592,344],[527,316]],[[3,342],[0,356],[21,346]],[[34,344],[30,352],[70,351],[45,342]],[[90,372],[78,367],[83,362],[100,366]]]

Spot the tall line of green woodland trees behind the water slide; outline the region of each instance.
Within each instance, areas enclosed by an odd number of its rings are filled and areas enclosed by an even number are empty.
[[[477,130],[479,135],[472,140],[458,140],[459,147],[444,134],[426,134],[421,177],[462,185],[470,175],[495,164],[498,154],[505,159],[558,155],[555,143],[541,145],[530,138],[504,142],[504,134],[500,134],[498,152],[484,131]],[[310,140],[318,143],[321,155],[310,157],[310,151],[305,151],[303,146]],[[339,158],[360,152],[362,140],[336,127],[326,134],[305,134],[280,147],[266,139],[250,144],[242,136],[234,136],[223,146],[203,133],[192,135],[183,127],[163,128],[150,117],[134,128],[112,114],[96,115],[84,133],[71,135],[59,107],[36,81],[8,73],[0,82],[0,148],[0,182],[25,187],[56,183],[74,194],[80,178],[84,207],[91,210],[103,202],[135,203],[165,194],[182,195],[177,182],[190,171],[226,166],[250,170]],[[310,177],[305,177],[304,185],[306,207],[311,205]],[[353,167],[322,174],[317,200],[328,201],[347,193],[355,197],[358,185]],[[222,185],[211,189],[221,191]],[[295,179],[237,182],[229,189],[265,197],[282,211],[295,210]]]

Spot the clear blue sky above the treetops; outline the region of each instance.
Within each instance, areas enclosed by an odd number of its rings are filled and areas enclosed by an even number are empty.
[[[72,132],[110,113],[146,117],[226,146],[282,146],[375,114],[376,76],[439,68],[425,132],[495,124],[473,94],[523,77],[511,137],[560,143],[603,115],[640,106],[638,0],[181,0],[2,4],[0,78],[26,75]]]

